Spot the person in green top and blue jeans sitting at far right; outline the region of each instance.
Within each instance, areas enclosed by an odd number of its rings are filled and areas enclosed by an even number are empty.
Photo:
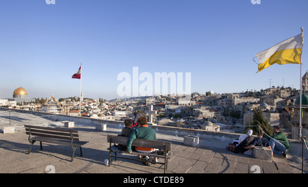
[[[287,151],[290,149],[287,137],[283,132],[281,132],[281,128],[279,126],[273,126],[272,132],[274,132],[271,136],[272,139],[270,139],[270,147],[272,147],[272,152],[274,154],[282,154],[283,157],[287,158]]]

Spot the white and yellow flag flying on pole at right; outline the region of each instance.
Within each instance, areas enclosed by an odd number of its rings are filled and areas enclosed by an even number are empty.
[[[278,63],[279,65],[287,63],[300,64],[303,41],[304,35],[302,30],[302,33],[284,40],[283,42],[280,42],[265,51],[257,53],[256,57],[259,59],[257,72],[261,72],[261,70],[272,66],[274,63]]]

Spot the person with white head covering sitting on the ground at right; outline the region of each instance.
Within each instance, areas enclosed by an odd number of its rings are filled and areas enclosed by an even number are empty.
[[[248,145],[250,145],[251,142],[253,142],[253,139],[255,139],[255,137],[253,137],[253,130],[248,128],[246,134],[240,135],[240,138],[238,139],[239,144],[235,147],[233,152],[235,154],[238,154],[241,152],[242,154],[251,155],[252,153],[251,149],[245,149],[244,147],[247,147]]]

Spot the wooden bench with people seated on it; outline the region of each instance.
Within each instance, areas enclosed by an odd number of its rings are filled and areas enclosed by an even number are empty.
[[[140,160],[138,158],[127,158],[124,156],[117,156],[118,153],[122,154],[129,154],[125,151],[121,151],[119,149],[113,149],[112,143],[117,143],[120,145],[127,145],[127,137],[125,136],[115,136],[115,135],[107,135],[107,142],[110,143],[109,147],[109,166],[111,164],[111,158],[114,157],[115,161],[116,158],[123,158],[128,160],[138,160],[141,162],[153,162],[152,160]],[[142,152],[132,152],[130,154],[133,155],[141,155],[141,156],[149,156],[150,158],[162,158],[164,162],[156,162],[157,164],[164,164],[164,173],[166,173],[166,169],[168,167],[168,159],[171,157],[171,143],[167,141],[153,141],[153,140],[146,140],[146,139],[134,139],[131,146],[135,147],[147,147],[147,148],[154,148],[154,149],[163,149],[164,152],[167,154],[157,154],[157,152],[149,153],[142,153]],[[114,153],[114,155],[112,155]]]

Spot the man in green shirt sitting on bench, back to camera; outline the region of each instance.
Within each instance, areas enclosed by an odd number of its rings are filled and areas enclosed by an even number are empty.
[[[153,128],[149,128],[147,126],[148,119],[145,116],[141,116],[138,119],[138,124],[140,124],[139,128],[136,128],[131,132],[131,135],[127,139],[127,152],[131,153],[131,143],[133,143],[134,139],[147,139],[147,140],[156,140],[156,133]],[[137,152],[142,153],[152,153],[155,152],[153,148],[146,148],[146,147],[135,147]],[[141,157],[141,156],[139,156]],[[155,158],[155,162],[157,162],[157,158]]]

